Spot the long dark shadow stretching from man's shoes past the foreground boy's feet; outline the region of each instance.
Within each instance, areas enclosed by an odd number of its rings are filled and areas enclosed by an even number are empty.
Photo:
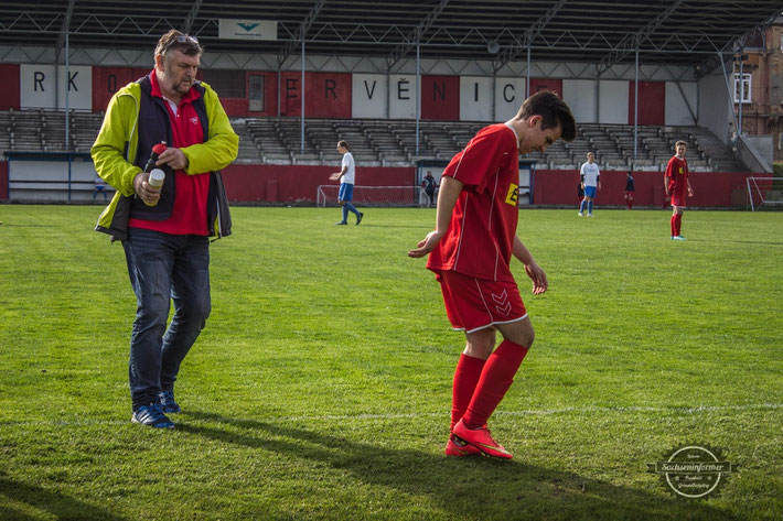
[[[218,426],[181,421],[178,431],[346,470],[367,485],[427,496],[458,519],[738,519],[706,501],[688,502],[528,465],[524,455],[511,462],[449,458],[262,421],[204,412],[189,412],[187,416]],[[640,468],[644,468],[643,462]]]

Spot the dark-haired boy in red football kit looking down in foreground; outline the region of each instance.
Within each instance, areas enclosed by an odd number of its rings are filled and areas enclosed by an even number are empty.
[[[429,253],[427,268],[441,284],[449,322],[465,332],[454,372],[447,455],[512,457],[486,427],[534,339],[511,257],[524,264],[533,294],[548,285],[516,236],[518,156],[544,152],[560,138],[572,141],[576,133],[568,105],[548,90],[525,100],[513,119],[479,131],[443,172],[435,231],[408,252],[415,258]],[[503,335],[497,349],[495,330]]]

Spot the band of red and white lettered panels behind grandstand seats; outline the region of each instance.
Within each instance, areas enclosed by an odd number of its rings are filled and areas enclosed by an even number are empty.
[[[0,107],[21,109],[65,108],[68,88],[69,107],[99,112],[106,110],[111,96],[150,68],[2,64],[3,79],[19,89],[6,88]],[[200,74],[201,76],[201,74]],[[419,77],[421,118],[443,121],[505,121],[516,115],[526,97],[525,77],[440,76]],[[278,79],[275,72],[247,70],[245,98],[225,98],[229,116],[277,116]],[[416,75],[305,73],[305,117],[415,119],[417,106]],[[280,76],[280,115],[301,115],[301,73],[285,72]],[[665,85],[665,87],[663,87]],[[530,78],[530,93],[548,88],[559,94],[573,108],[581,122],[628,123],[633,82]],[[640,111],[642,124],[693,124],[688,106],[696,106],[698,86],[684,82],[679,88],[671,83],[640,85],[640,106],[655,107],[655,118]],[[57,93],[58,90],[58,93]],[[217,89],[221,95],[219,88]],[[251,93],[251,94],[250,94]],[[250,102],[253,101],[253,102]],[[646,104],[646,105],[645,105]],[[688,104],[688,105],[686,105]],[[662,107],[665,109],[662,110]],[[600,115],[598,113],[600,111]]]

